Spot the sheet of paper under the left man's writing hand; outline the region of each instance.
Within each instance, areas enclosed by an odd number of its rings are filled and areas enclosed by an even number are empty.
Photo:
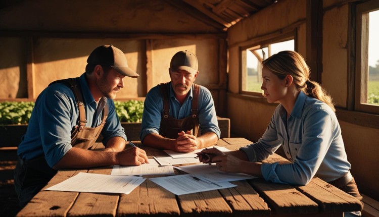
[[[149,161],[155,161],[150,159]],[[175,175],[171,165],[159,166],[154,164],[143,164],[140,166],[113,166],[112,176],[135,176],[135,175]]]

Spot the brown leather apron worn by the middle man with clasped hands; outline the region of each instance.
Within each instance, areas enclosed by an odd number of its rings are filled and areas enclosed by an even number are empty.
[[[199,131],[199,118],[198,118],[198,99],[200,86],[197,84],[193,84],[193,98],[192,98],[192,107],[191,113],[192,115],[183,118],[183,119],[175,119],[170,117],[170,99],[169,99],[169,90],[167,89],[167,83],[159,84],[162,90],[163,95],[163,117],[161,118],[161,126],[159,129],[159,135],[176,139],[178,137],[178,133],[181,131],[192,130],[193,135],[198,135]]]

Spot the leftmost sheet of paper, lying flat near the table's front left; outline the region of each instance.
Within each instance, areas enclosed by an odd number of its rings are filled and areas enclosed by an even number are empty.
[[[144,178],[135,176],[79,173],[45,190],[129,194],[144,181]]]

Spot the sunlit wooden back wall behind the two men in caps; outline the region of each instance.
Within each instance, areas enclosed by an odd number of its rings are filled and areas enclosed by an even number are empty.
[[[140,75],[126,77],[116,99],[144,99],[152,87],[170,80],[172,56],[187,49],[199,59],[196,83],[210,89],[217,114],[225,116],[225,32],[165,1],[42,2],[1,10],[0,100],[35,100],[50,82],[80,76],[89,53],[103,44],[124,51]]]

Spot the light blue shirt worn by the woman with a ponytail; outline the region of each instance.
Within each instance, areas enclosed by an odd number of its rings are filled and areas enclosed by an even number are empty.
[[[351,168],[335,113],[304,92],[300,92],[288,120],[285,108],[279,104],[262,138],[241,150],[250,161],[261,161],[280,145],[292,164],[262,164],[265,180],[306,185],[316,176],[330,182]]]

